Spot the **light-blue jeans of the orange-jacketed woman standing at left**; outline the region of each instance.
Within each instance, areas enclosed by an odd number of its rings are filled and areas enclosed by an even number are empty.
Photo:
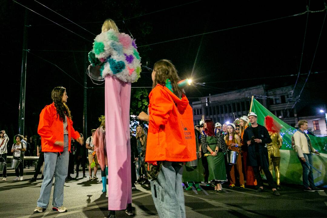
[[[64,149],[61,155],[59,155],[59,152],[44,152],[44,178],[40,198],[37,201],[38,207],[48,207],[54,174],[56,174],[56,178],[52,205],[54,207],[63,205],[63,187],[68,172],[68,160],[68,135],[64,135]]]

